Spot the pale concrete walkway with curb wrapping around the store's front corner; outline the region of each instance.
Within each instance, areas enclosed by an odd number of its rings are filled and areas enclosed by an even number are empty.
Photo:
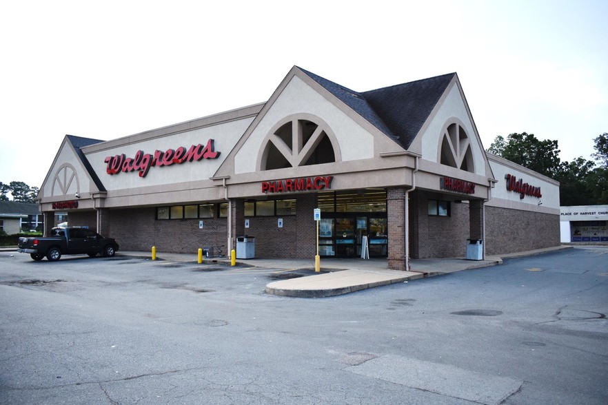
[[[501,256],[487,256],[486,260],[465,260],[463,258],[447,259],[415,259],[410,261],[410,271],[397,271],[387,269],[386,259],[361,259],[361,258],[323,258],[321,259],[321,271],[314,272],[314,258],[304,259],[237,259],[241,266],[262,267],[276,269],[277,273],[292,271],[293,278],[270,282],[266,286],[266,292],[275,295],[289,297],[330,297],[352,293],[372,287],[379,287],[397,282],[406,282],[441,274],[453,273],[468,269],[478,269],[501,264],[505,258],[517,258],[532,256],[536,254],[558,251],[560,249],[571,249],[572,246],[559,246],[533,251],[509,253]],[[17,250],[17,249],[0,249]],[[21,253],[19,253],[21,254]],[[151,252],[145,251],[118,251],[117,256],[134,256],[139,258],[151,258]],[[164,253],[156,252],[157,260],[170,262],[192,262],[198,263],[196,253]],[[230,267],[228,258],[203,258],[203,263],[221,264]]]

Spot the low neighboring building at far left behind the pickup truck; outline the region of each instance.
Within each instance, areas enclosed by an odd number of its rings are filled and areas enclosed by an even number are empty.
[[[5,231],[7,235],[21,231],[41,231],[42,218],[38,204],[0,201],[0,230]]]

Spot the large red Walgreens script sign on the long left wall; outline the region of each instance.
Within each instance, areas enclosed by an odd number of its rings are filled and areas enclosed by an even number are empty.
[[[152,166],[180,165],[184,162],[192,162],[192,160],[215,159],[219,155],[220,152],[213,150],[213,139],[210,139],[207,141],[207,145],[203,146],[201,143],[192,145],[188,151],[183,146],[177,149],[167,149],[165,152],[157,149],[152,156],[152,154],[145,154],[139,150],[133,158],[121,154],[108,156],[103,161],[108,165],[105,172],[110,175],[139,170],[139,177],[145,177]]]

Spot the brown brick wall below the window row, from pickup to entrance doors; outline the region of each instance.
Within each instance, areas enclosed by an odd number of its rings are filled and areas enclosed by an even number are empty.
[[[256,258],[311,258],[316,254],[316,227],[313,209],[316,194],[296,196],[296,216],[252,217],[250,228],[245,229],[244,202],[232,200],[232,229],[234,248],[236,237],[254,236]],[[283,228],[277,220],[283,218]],[[119,242],[121,250],[196,254],[199,248],[221,247],[224,255],[227,248],[227,218],[203,218],[203,229],[199,219],[156,220],[156,208],[112,209],[110,211],[112,238]]]

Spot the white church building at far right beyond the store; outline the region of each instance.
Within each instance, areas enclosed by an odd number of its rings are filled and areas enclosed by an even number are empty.
[[[571,205],[560,211],[561,242],[608,242],[608,205]]]

